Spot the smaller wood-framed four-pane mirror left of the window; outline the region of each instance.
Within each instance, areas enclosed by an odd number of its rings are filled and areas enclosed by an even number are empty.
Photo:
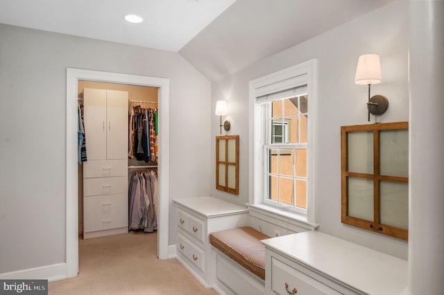
[[[239,195],[239,135],[216,136],[216,189]]]

